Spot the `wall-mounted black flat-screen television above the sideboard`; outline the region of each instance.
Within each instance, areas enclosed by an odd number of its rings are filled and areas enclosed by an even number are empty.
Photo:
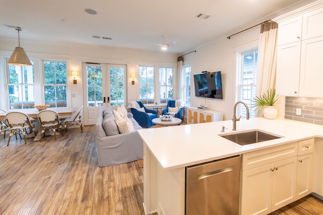
[[[194,75],[195,96],[223,99],[221,71]]]

